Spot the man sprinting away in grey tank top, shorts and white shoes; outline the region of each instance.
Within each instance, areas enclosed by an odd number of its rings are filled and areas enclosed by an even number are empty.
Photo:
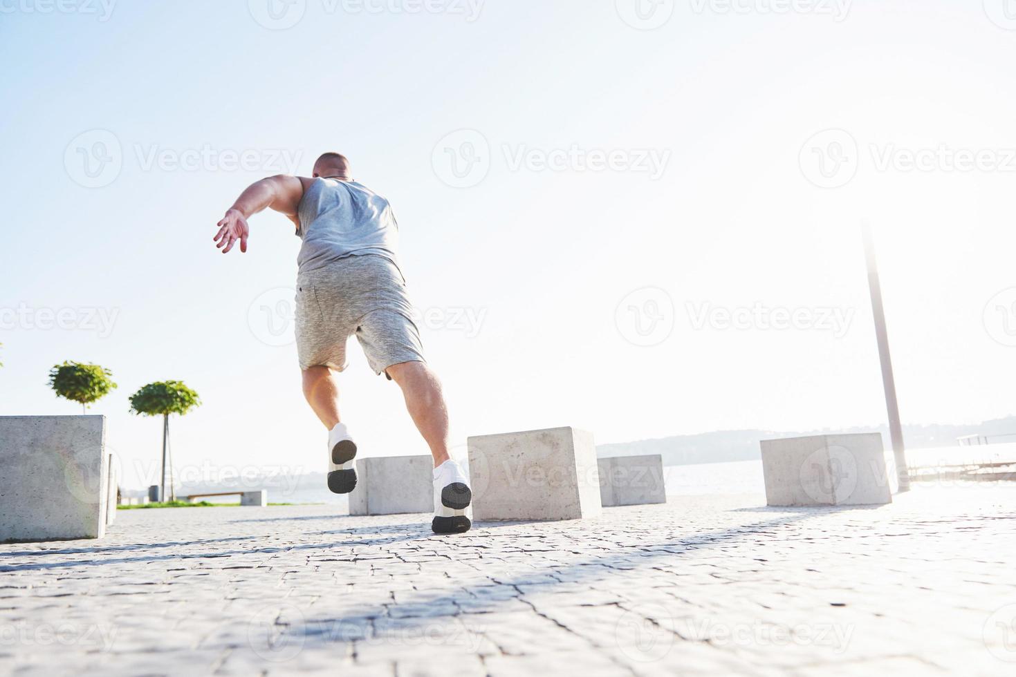
[[[328,429],[328,488],[357,485],[357,445],[338,413],[335,373],[356,335],[367,361],[402,389],[406,409],[434,455],[436,534],[468,531],[472,498],[462,469],[448,456],[448,411],[427,366],[398,266],[398,225],[383,197],[351,178],[348,160],[328,152],[313,178],[276,176],[251,185],[226,212],[214,241],[228,254],[247,251],[247,219],[266,208],[297,226],[297,353],[304,396]]]

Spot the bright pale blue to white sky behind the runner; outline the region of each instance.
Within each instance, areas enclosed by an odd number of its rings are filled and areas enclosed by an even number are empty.
[[[904,422],[1016,412],[1004,0],[638,2],[0,0],[0,413],[79,412],[47,373],[93,361],[127,486],[169,379],[178,468],[323,471],[293,226],[211,236],[324,150],[394,206],[456,445],[883,421],[864,218]],[[350,348],[363,453],[426,453]]]

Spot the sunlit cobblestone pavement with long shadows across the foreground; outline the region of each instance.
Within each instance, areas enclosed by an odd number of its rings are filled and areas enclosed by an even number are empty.
[[[0,673],[1016,674],[1016,487],[479,524],[121,511],[0,546]]]

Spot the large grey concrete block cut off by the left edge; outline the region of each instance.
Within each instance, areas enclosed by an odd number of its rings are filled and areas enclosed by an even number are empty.
[[[106,533],[105,416],[0,416],[0,542]]]

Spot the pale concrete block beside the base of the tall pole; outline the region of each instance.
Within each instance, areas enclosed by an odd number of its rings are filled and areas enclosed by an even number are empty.
[[[763,439],[762,472],[769,505],[892,502],[878,432]]]

